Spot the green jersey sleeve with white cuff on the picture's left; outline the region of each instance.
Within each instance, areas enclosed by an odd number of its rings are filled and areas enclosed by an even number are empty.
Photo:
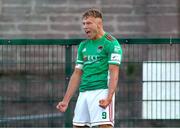
[[[79,45],[78,51],[77,51],[76,66],[75,66],[75,68],[79,68],[79,69],[83,68],[84,61],[83,61],[82,49],[83,49],[83,45],[81,43]]]

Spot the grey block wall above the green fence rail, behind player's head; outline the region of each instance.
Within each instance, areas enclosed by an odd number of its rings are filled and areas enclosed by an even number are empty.
[[[0,38],[85,38],[81,14],[98,7],[121,37],[179,37],[178,0],[0,0]]]

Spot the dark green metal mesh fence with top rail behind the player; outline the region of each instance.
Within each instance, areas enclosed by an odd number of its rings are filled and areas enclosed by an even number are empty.
[[[72,127],[78,93],[65,114],[55,107],[82,40],[0,40],[0,127]],[[118,41],[115,127],[180,127],[180,39]]]

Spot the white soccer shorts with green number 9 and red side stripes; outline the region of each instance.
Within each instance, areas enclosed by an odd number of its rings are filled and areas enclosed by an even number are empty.
[[[114,126],[114,99],[106,109],[99,106],[99,100],[106,99],[108,89],[80,92],[73,118],[75,126],[97,126],[111,124]]]

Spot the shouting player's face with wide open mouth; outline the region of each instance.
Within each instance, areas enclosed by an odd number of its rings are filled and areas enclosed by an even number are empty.
[[[94,17],[86,17],[83,19],[83,29],[90,39],[97,39],[97,35],[99,32],[99,26],[96,18]]]

